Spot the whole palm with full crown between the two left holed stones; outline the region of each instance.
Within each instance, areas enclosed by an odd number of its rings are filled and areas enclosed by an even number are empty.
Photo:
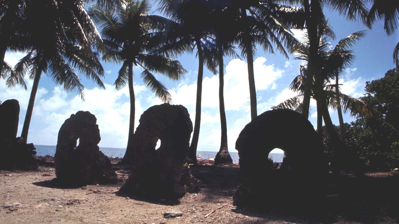
[[[133,89],[133,65],[143,69],[140,74],[144,84],[162,101],[172,102],[168,89],[152,74],[162,73],[172,80],[179,80],[186,70],[179,61],[174,61],[164,53],[150,53],[162,47],[168,40],[162,31],[173,24],[161,16],[150,15],[150,4],[146,0],[126,1],[117,9],[93,6],[90,16],[101,29],[105,52],[103,60],[122,63],[115,86],[119,90],[126,84],[130,94],[130,123],[126,153],[122,163],[130,163],[129,153],[134,133],[135,100]]]

